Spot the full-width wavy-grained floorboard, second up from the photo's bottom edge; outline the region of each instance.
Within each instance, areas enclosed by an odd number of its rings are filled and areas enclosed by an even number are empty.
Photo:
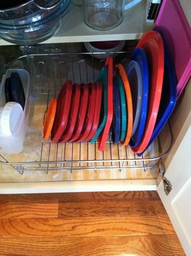
[[[0,219],[0,237],[174,234],[168,216]]]

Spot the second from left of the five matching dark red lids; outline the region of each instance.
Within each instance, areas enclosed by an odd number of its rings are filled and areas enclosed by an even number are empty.
[[[77,120],[79,104],[80,104],[80,85],[74,84],[72,89],[68,123],[59,142],[67,142],[71,138],[75,128],[76,120]]]

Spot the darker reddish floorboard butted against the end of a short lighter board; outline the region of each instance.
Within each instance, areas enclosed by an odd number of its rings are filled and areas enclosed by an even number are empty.
[[[106,217],[164,215],[166,210],[158,199],[84,199],[83,201],[59,203],[58,217]]]

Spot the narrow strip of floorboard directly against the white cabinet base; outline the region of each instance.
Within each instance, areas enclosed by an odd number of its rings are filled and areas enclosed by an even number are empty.
[[[156,191],[120,191],[120,192],[86,192],[86,193],[48,193],[48,194],[1,194],[0,201],[73,201],[83,199],[126,199],[126,198],[158,198]]]

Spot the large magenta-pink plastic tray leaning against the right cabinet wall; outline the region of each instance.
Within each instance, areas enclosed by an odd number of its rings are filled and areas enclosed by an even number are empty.
[[[179,97],[191,76],[191,28],[178,0],[163,0],[155,27],[160,29],[172,57]]]

